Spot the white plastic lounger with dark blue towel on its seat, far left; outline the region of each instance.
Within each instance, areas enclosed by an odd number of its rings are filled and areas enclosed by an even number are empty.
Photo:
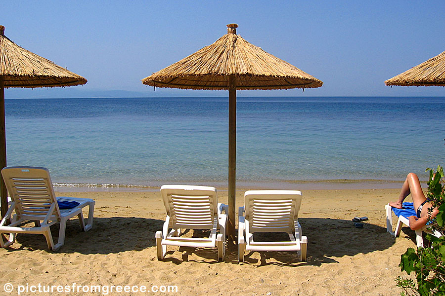
[[[57,251],[65,242],[66,222],[74,216],[78,216],[83,231],[91,229],[94,200],[56,197],[47,169],[6,167],[1,170],[1,175],[11,198],[9,209],[0,222],[0,233],[10,233],[6,243],[0,238],[2,248],[13,244],[17,233],[32,233],[45,235],[48,248]],[[79,204],[73,208],[60,209],[58,202],[77,202]],[[87,224],[85,224],[82,213],[82,209],[86,206],[89,206]],[[15,212],[14,215],[13,212]],[[10,221],[9,224],[7,224],[8,221]],[[21,227],[20,224],[26,221],[35,222],[36,226]],[[54,245],[49,226],[56,222],[60,222],[60,229],[58,242]]]

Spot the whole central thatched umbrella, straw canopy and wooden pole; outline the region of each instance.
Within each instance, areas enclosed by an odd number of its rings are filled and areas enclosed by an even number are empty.
[[[238,25],[215,43],[144,79],[154,87],[224,89],[229,92],[228,233],[235,229],[236,90],[313,88],[322,81],[236,35]]]

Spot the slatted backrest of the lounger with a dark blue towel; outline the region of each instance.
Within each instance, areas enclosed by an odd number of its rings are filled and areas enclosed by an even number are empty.
[[[6,188],[19,218],[44,220],[52,204],[54,215],[60,217],[55,202],[49,171],[39,167],[6,167],[1,170]]]

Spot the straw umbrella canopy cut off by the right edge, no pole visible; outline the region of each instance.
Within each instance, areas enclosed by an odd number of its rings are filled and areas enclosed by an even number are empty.
[[[391,79],[386,85],[445,86],[445,51]]]

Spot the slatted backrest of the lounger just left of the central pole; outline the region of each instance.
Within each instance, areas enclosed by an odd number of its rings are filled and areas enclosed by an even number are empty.
[[[217,190],[208,186],[163,185],[161,195],[174,229],[212,229],[218,217]]]

